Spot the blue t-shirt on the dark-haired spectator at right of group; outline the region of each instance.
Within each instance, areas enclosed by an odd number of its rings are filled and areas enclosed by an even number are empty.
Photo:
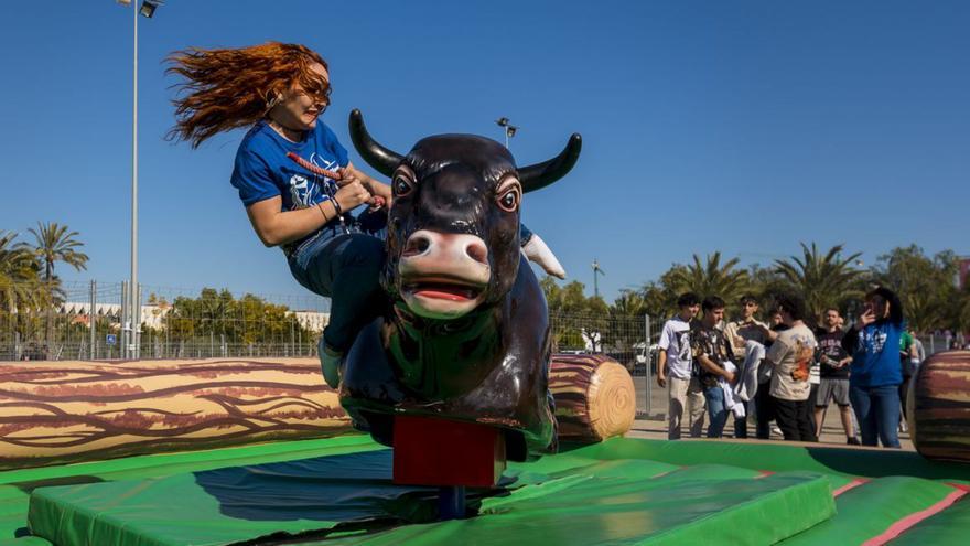
[[[903,329],[890,321],[872,323],[861,332],[852,353],[849,381],[860,387],[903,383],[899,366],[899,335]]]

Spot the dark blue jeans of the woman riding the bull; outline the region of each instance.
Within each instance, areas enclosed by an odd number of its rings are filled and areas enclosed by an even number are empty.
[[[303,242],[289,263],[300,285],[331,298],[330,323],[323,331],[327,347],[347,351],[357,332],[384,310],[384,239],[326,227]]]

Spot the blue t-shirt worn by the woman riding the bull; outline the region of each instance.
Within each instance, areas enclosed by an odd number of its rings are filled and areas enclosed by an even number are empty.
[[[347,167],[347,150],[333,131],[317,120],[302,142],[291,142],[265,120],[257,122],[239,144],[231,183],[246,206],[282,197],[282,211],[314,206],[336,192],[334,181],[314,174],[287,157],[293,152],[316,167],[336,171]]]

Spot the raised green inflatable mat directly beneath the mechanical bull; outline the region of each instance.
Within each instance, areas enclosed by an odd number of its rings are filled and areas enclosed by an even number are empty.
[[[560,465],[554,459],[546,460]],[[529,475],[519,474],[521,482],[506,485],[504,496],[482,500],[477,517],[432,524],[430,531],[400,524],[433,522],[436,491],[391,485],[389,451],[44,488],[31,499],[30,527],[54,544],[122,546],[313,539],[332,529],[373,533],[388,525],[398,526],[386,536],[355,534],[341,542],[690,544],[716,534],[729,544],[756,545],[834,513],[830,482],[815,473],[763,477],[716,464],[578,462],[541,475],[541,462],[534,463]]]

